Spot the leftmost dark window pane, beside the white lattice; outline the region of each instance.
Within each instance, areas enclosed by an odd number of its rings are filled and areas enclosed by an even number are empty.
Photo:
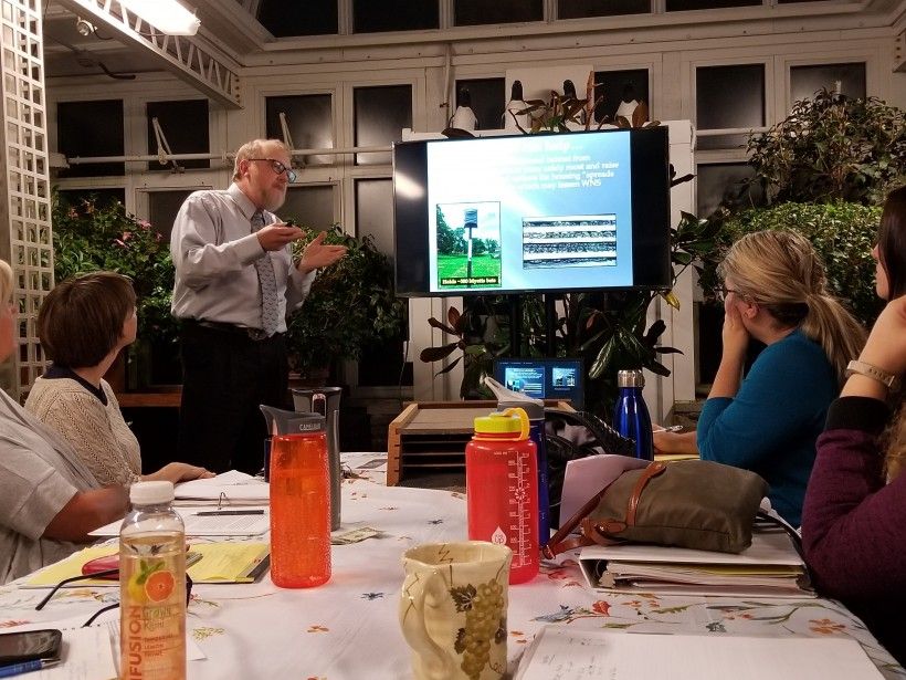
[[[123,100],[61,102],[56,105],[56,139],[60,153],[75,156],[123,156]],[[124,175],[124,163],[71,165],[57,177]]]

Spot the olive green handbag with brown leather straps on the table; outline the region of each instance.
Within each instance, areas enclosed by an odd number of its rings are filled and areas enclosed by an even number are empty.
[[[755,472],[706,460],[653,462],[623,472],[563,523],[546,557],[623,542],[740,553],[751,545],[768,483]],[[568,537],[579,529],[578,536]]]

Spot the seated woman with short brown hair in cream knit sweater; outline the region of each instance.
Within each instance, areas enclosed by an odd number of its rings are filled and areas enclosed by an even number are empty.
[[[60,432],[102,484],[213,477],[178,462],[141,474],[138,440],[103,378],[119,351],[135,341],[135,302],[131,282],[113,272],[57,284],[38,313],[38,336],[53,365],[35,380],[25,408]]]

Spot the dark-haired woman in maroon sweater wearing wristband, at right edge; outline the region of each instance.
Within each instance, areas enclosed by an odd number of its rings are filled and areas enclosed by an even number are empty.
[[[802,515],[805,558],[906,663],[906,187],[884,205],[875,289],[888,300],[828,414]]]

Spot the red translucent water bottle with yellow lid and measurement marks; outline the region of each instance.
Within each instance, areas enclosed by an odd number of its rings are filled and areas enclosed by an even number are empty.
[[[513,551],[509,583],[538,574],[538,450],[520,408],[475,418],[465,447],[468,538]]]

